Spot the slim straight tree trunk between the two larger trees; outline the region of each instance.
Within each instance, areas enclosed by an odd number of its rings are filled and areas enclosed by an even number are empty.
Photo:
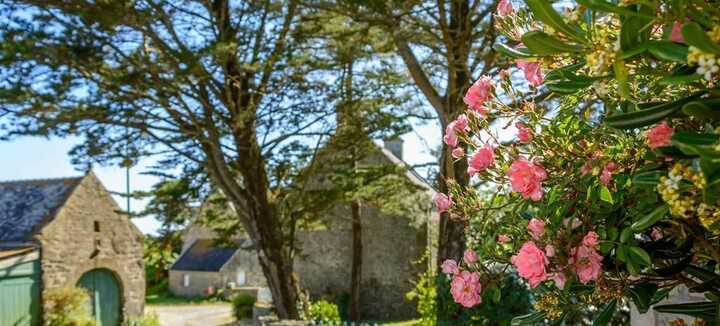
[[[360,284],[362,283],[362,221],[360,220],[360,202],[350,204],[352,210],[352,276],[350,280],[350,320],[360,321]]]

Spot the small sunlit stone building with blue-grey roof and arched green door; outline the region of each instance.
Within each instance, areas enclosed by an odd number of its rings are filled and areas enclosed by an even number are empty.
[[[24,298],[32,307],[15,304],[3,312],[0,324],[15,316],[25,321],[20,325],[39,325],[44,293],[74,286],[89,290],[98,325],[119,325],[142,314],[140,231],[92,172],[78,178],[1,182],[0,306]],[[9,293],[11,298],[4,295]]]

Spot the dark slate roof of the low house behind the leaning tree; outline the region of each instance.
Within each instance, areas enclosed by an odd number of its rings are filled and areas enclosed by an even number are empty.
[[[172,270],[219,272],[238,247],[216,247],[212,239],[198,239],[178,258]]]

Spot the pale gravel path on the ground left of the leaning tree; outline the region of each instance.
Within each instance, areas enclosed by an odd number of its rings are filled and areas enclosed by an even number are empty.
[[[235,320],[229,304],[148,306],[146,311],[156,313],[163,326],[221,326]]]

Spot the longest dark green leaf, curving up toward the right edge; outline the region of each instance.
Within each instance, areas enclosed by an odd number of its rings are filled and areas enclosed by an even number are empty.
[[[648,126],[662,121],[669,115],[679,111],[683,105],[699,98],[702,94],[704,94],[704,92],[701,91],[677,101],[659,104],[648,109],[630,113],[615,114],[606,117],[605,123],[610,127],[618,129],[632,129]]]

